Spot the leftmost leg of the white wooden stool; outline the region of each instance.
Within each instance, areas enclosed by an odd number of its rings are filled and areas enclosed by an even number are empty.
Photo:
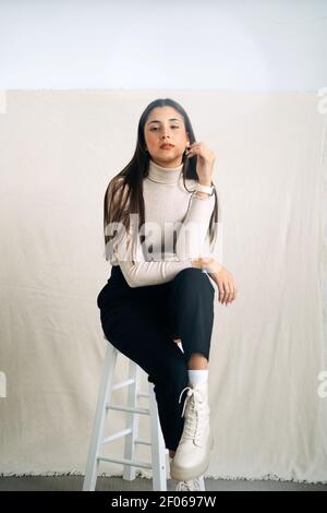
[[[111,384],[117,361],[117,355],[118,350],[116,349],[116,347],[107,343],[105,365],[101,373],[96,413],[88,449],[83,491],[94,491],[96,487],[98,472],[97,458],[99,456],[99,451],[104,439],[104,428],[107,413],[106,403],[110,402]]]

